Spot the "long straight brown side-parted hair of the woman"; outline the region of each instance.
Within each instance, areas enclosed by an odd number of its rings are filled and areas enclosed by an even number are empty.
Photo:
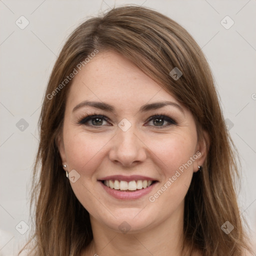
[[[244,254],[248,247],[235,193],[236,151],[207,61],[191,35],[172,19],[149,8],[122,6],[81,23],[50,75],[39,119],[31,193],[35,230],[26,244],[33,244],[29,255],[79,255],[92,240],[89,214],[65,177],[57,137],[72,80],[63,81],[95,49],[115,50],[131,60],[191,111],[199,138],[203,130],[209,135],[202,171],[194,173],[185,196],[184,244],[205,256]],[[179,79],[169,74],[174,67],[182,72]],[[234,226],[229,234],[220,228],[225,221]]]

